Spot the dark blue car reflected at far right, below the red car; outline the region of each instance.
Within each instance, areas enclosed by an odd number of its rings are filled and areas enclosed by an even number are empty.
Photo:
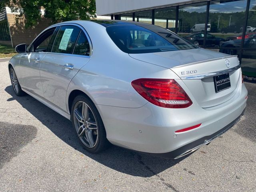
[[[240,55],[239,48],[241,47],[242,39],[224,42],[220,47],[220,52],[230,55]],[[256,34],[251,35],[249,38],[244,39],[243,48],[250,48],[243,50],[243,58],[256,59]]]

